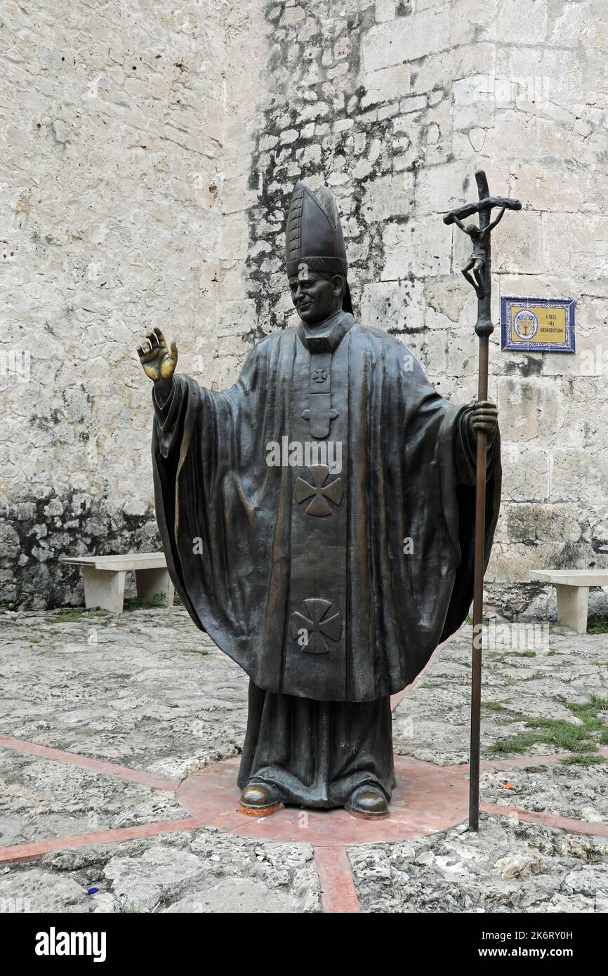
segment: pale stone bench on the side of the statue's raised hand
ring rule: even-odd
[[[122,613],[127,573],[135,573],[140,599],[162,593],[167,606],[173,606],[175,590],[169,579],[167,560],[163,552],[84,555],[63,558],[60,561],[70,566],[82,566],[87,610],[101,607],[110,613]]]

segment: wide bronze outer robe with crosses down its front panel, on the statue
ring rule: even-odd
[[[283,438],[303,451],[340,444],[342,469],[314,456],[311,468],[267,464]],[[343,311],[263,339],[222,392],[177,376],[155,403],[152,457],[182,602],[267,692],[370,702],[399,691],[468,612],[474,446],[467,408]],[[486,558],[500,479],[497,434]]]

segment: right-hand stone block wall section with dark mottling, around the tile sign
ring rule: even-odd
[[[470,243],[439,211],[517,196],[494,244],[500,296],[577,303],[577,353],[501,352],[505,504],[488,595],[547,609],[529,570],[606,566],[608,25],[600,0],[268,4],[271,99],[253,159],[256,335],[293,320],[281,262],[291,184],[338,196],[355,313],[398,335],[454,402],[476,390]],[[595,594],[596,608],[605,602]]]

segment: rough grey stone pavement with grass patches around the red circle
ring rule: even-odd
[[[247,678],[182,608],[121,617],[5,613],[0,626],[0,735],[154,781],[129,782],[0,743],[2,845],[179,822],[187,815],[162,778],[181,780],[238,754]],[[481,788],[506,815],[483,813],[479,834],[461,825],[348,846],[362,912],[608,911],[608,836],[585,834],[600,834],[608,821],[607,765],[596,761],[608,744],[608,635],[551,628],[540,640],[537,632],[531,650],[521,632],[508,632],[506,648],[497,634],[488,629]],[[466,763],[469,644],[465,626],[399,703],[395,752]],[[526,823],[507,808],[546,823]],[[571,827],[578,821],[583,833],[547,826],[550,817],[568,818]],[[92,887],[98,891],[88,895]],[[0,904],[55,912],[322,911],[310,844],[211,828],[84,844],[0,866]]]

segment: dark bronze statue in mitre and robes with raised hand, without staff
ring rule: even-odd
[[[479,431],[489,557],[497,410],[447,403],[405,346],[355,320],[327,187],[296,184],[286,261],[300,321],[254,346],[229,389],[175,376],[159,329],[138,349],[158,526],[194,623],[250,677],[241,810],[383,817],[389,697],[470,605]]]

